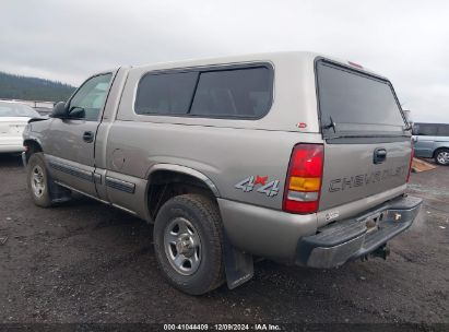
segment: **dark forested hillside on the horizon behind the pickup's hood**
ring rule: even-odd
[[[0,72],[0,98],[60,102],[73,91],[73,86],[60,82]]]

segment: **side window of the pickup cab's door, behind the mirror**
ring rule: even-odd
[[[69,116],[73,119],[97,121],[113,74],[102,74],[88,79],[78,90],[69,105]]]

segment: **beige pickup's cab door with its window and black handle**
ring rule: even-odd
[[[68,118],[54,119],[47,151],[49,170],[58,182],[97,197],[95,135],[102,120],[113,73],[86,80],[67,103]]]

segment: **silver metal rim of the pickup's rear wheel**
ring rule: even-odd
[[[201,241],[197,229],[184,217],[172,220],[164,230],[165,254],[182,275],[193,274],[201,262]]]

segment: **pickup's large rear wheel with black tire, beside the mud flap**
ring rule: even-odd
[[[168,200],[154,225],[154,247],[164,276],[176,288],[201,295],[224,282],[218,208],[201,194]]]

